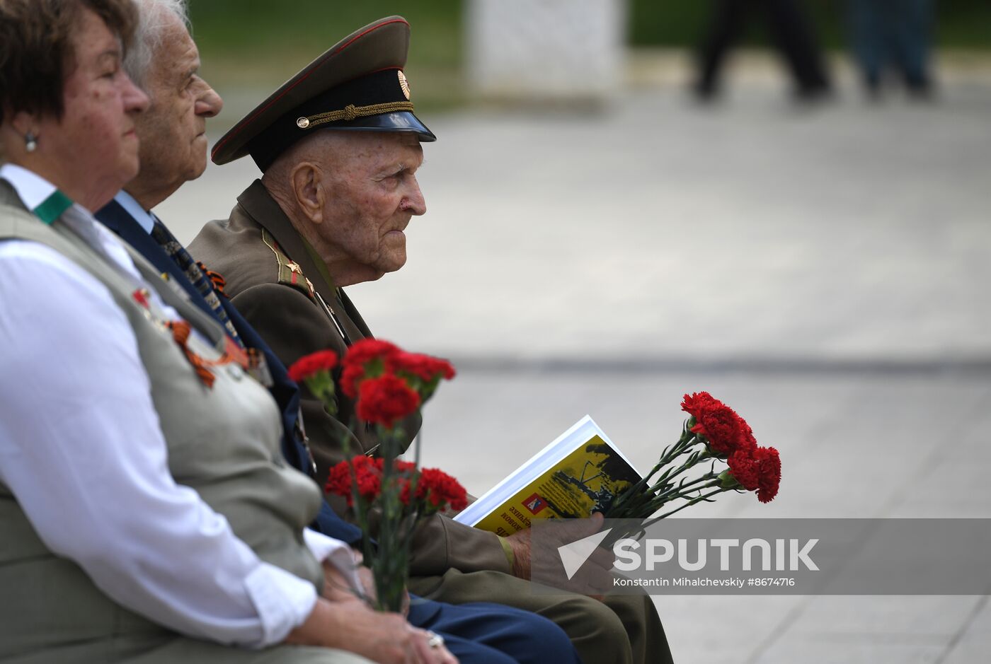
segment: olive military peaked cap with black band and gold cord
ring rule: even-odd
[[[241,119],[213,147],[214,163],[245,154],[263,171],[293,143],[315,131],[409,132],[437,137],[413,115],[402,68],[409,24],[390,16],[330,47]]]

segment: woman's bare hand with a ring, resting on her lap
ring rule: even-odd
[[[364,603],[319,599],[285,642],[339,648],[381,664],[458,664],[443,645],[431,648],[429,639],[398,614],[375,612]]]

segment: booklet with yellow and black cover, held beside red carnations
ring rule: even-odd
[[[583,519],[605,512],[639,481],[633,464],[585,416],[454,520],[506,536],[530,527],[534,519]]]

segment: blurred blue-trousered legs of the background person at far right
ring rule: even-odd
[[[871,98],[881,94],[888,67],[898,71],[911,95],[932,94],[932,0],[850,0],[849,18],[853,53]]]

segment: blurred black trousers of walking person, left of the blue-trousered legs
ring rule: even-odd
[[[829,80],[819,44],[811,22],[795,0],[714,0],[713,18],[700,54],[699,92],[711,95],[718,90],[719,70],[729,48],[758,12],[766,19],[771,40],[788,64],[796,91],[826,91]]]

